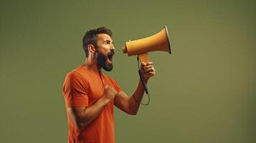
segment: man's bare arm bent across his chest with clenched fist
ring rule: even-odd
[[[108,87],[108,85],[106,85],[104,88],[103,97],[98,99],[98,101],[90,107],[67,108],[67,114],[70,116],[77,129],[83,129],[93,122],[100,112],[102,112],[104,107],[115,98],[117,92],[113,87]]]

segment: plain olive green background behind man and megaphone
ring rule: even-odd
[[[150,53],[151,104],[136,116],[115,109],[116,142],[255,142],[255,7],[255,1],[1,0],[1,142],[67,142],[62,83],[85,60],[85,31],[112,29],[116,54],[107,74],[133,94],[136,56],[121,47],[164,25],[173,54]]]

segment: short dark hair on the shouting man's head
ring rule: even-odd
[[[91,29],[85,33],[85,36],[82,38],[82,47],[85,50],[85,56],[88,57],[89,52],[87,49],[87,46],[89,44],[92,44],[95,46],[95,48],[98,48],[97,45],[97,37],[98,34],[108,34],[109,36],[112,36],[112,31],[110,29],[107,29],[105,27],[100,27],[98,29]]]

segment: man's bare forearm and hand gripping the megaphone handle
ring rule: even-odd
[[[143,71],[143,73],[145,71],[145,74],[143,74],[143,78],[145,79],[146,84],[148,82],[148,79],[150,77],[153,77],[156,73],[152,62],[149,62],[148,64],[142,64],[141,70]],[[143,98],[144,92],[145,90],[140,80],[140,82],[138,83],[138,87],[133,93],[132,97],[129,97],[123,91],[116,94],[115,106],[127,114],[135,115],[137,114],[138,108],[140,107],[141,99]]]

